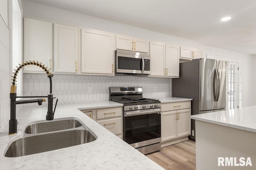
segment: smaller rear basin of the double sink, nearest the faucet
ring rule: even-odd
[[[45,133],[52,131],[60,131],[64,129],[72,129],[76,127],[81,127],[82,124],[76,119],[56,119],[54,121],[45,121],[42,123],[34,123],[29,125],[25,129],[25,133],[34,134],[34,133]]]

